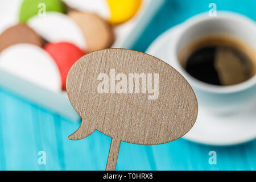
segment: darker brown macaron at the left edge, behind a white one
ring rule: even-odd
[[[28,43],[43,47],[44,40],[26,24],[16,24],[0,35],[0,52],[14,44]]]

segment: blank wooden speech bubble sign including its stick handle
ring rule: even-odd
[[[128,49],[81,57],[68,73],[67,93],[82,118],[69,139],[95,130],[112,137],[106,170],[115,170],[121,141],[171,142],[197,118],[196,96],[185,78],[162,60]]]

